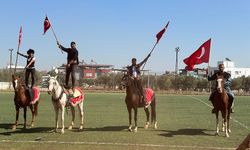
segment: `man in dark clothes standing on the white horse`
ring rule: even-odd
[[[77,69],[77,65],[79,64],[78,50],[76,49],[76,43],[71,42],[70,48],[63,47],[59,42],[57,42],[57,45],[61,50],[68,53],[67,65],[66,65],[65,88],[69,89],[69,76],[71,74],[72,90],[74,92],[75,91],[75,71]]]

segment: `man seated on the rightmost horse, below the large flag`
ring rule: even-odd
[[[224,80],[225,80],[224,89],[226,90],[227,95],[229,97],[229,105],[232,106],[233,101],[234,101],[234,94],[233,94],[232,90],[230,89],[230,86],[231,86],[231,83],[232,83],[231,74],[229,74],[228,72],[225,72],[224,68],[225,68],[224,64],[219,64],[219,71],[214,73],[211,77],[208,76],[208,81],[216,80],[217,76],[223,75]],[[215,92],[216,92],[216,90],[213,90],[213,92],[211,93],[211,95],[209,97],[210,101],[212,101],[214,99]],[[231,111],[231,113],[234,112],[232,108],[231,108],[230,111]],[[212,110],[212,113],[215,113],[214,109]]]

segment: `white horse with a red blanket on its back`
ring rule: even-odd
[[[68,98],[66,93],[64,92],[64,89],[58,81],[56,80],[57,76],[49,77],[48,80],[48,93],[52,95],[52,103],[54,106],[55,114],[56,114],[56,127],[55,127],[55,132],[58,130],[58,115],[59,115],[59,110],[61,110],[61,121],[62,121],[62,129],[61,133],[64,133],[64,112],[65,112],[65,106],[67,104]],[[79,130],[83,129],[83,119],[84,119],[84,111],[83,111],[83,100],[84,100],[84,93],[81,91],[80,88],[76,88],[75,92],[78,91],[80,93],[80,98],[77,102],[71,102],[70,101],[70,107],[71,107],[71,113],[72,113],[72,121],[71,124],[69,125],[68,129],[71,130],[74,126],[74,120],[75,120],[75,106],[78,106],[78,109],[80,111],[80,127]]]

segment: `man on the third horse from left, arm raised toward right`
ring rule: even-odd
[[[145,104],[145,95],[144,91],[142,88],[142,83],[141,83],[141,71],[140,67],[147,62],[148,58],[150,57],[151,53],[148,54],[148,56],[139,64],[136,63],[136,58],[132,58],[132,65],[128,66],[128,74],[134,78],[135,85],[138,89],[138,93],[140,95],[140,104]]]

